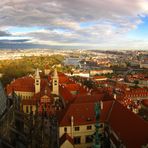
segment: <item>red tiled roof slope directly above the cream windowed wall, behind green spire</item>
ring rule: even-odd
[[[112,101],[103,102],[103,109],[101,110],[100,121],[106,120],[108,111],[111,107]],[[71,116],[74,117],[74,125],[94,124],[95,119],[95,103],[73,103],[70,104],[63,112],[58,114],[60,126],[70,126]]]

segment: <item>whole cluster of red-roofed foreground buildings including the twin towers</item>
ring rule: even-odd
[[[103,88],[102,88],[103,89]],[[105,89],[109,90],[109,89]],[[7,86],[7,95],[15,92],[24,113],[46,112],[56,115],[61,148],[89,148],[96,132],[95,104],[100,104],[100,145],[106,147],[147,147],[148,123],[127,109],[118,97],[107,91],[93,91],[63,73],[26,76]],[[43,115],[43,114],[42,114]]]

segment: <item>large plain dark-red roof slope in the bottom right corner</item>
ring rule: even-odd
[[[115,101],[108,124],[127,148],[140,148],[148,142],[148,122]]]

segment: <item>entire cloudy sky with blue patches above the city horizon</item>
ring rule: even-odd
[[[1,0],[0,48],[148,50],[148,0]]]

